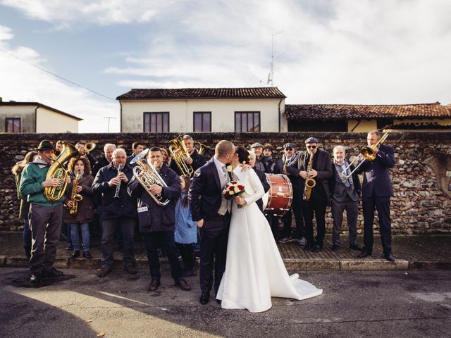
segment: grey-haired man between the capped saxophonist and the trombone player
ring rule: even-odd
[[[345,158],[345,148],[335,146],[333,149],[332,173],[329,180],[332,201],[332,251],[340,248],[340,231],[343,223],[343,211],[346,210],[347,227],[350,232],[350,249],[362,251],[357,244],[357,215],[359,214],[360,188],[359,176],[352,173],[354,165]],[[349,175],[350,177],[345,175]]]

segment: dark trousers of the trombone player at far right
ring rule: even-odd
[[[378,210],[379,232],[381,232],[381,242],[383,253],[392,252],[392,225],[390,221],[390,197],[378,197],[373,194],[371,197],[362,199],[364,211],[364,249],[370,253],[373,251],[373,222],[374,209]]]

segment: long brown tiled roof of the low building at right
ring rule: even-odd
[[[286,104],[288,120],[341,120],[354,118],[451,118],[451,105],[434,104]]]

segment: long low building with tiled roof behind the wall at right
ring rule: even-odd
[[[369,132],[451,128],[451,105],[287,104],[288,131]]]

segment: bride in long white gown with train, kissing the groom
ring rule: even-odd
[[[297,274],[288,275],[271,228],[255,204],[264,195],[259,177],[254,170],[241,171],[240,163],[248,158],[247,149],[238,146],[232,161],[233,180],[239,180],[246,192],[235,197],[232,206],[226,271],[216,299],[223,308],[263,312],[271,308],[271,296],[298,300],[319,296],[322,289],[299,280]]]

